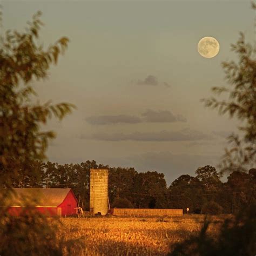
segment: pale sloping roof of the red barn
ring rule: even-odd
[[[8,199],[8,205],[20,207],[57,207],[68,193],[72,192],[71,188],[13,188],[13,190],[15,193],[12,193]]]

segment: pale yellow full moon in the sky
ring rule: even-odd
[[[213,58],[218,54],[220,45],[217,39],[207,36],[199,41],[197,49],[201,56],[205,58]]]

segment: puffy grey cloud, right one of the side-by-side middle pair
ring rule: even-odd
[[[152,122],[152,123],[172,123],[172,122],[186,122],[186,118],[178,114],[174,116],[172,112],[165,110],[165,111],[153,111],[147,110],[146,112],[142,113],[145,122]]]

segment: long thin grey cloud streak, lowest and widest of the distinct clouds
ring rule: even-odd
[[[83,138],[83,136],[81,137]],[[211,136],[203,132],[183,129],[180,131],[160,131],[160,132],[133,132],[133,133],[94,133],[91,137],[96,140],[121,141],[135,140],[138,142],[177,142],[186,140],[211,139]]]

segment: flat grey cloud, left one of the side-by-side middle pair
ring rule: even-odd
[[[92,125],[106,125],[106,124],[137,124],[142,120],[136,116],[128,116],[125,114],[119,114],[118,116],[91,116],[87,117],[86,121]]]

